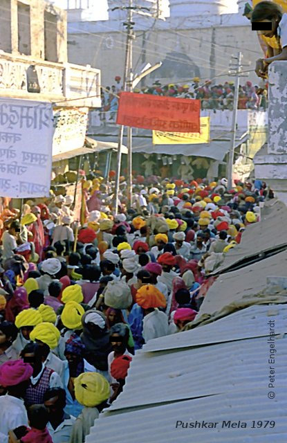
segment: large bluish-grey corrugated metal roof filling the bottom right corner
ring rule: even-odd
[[[272,317],[268,316],[271,308]],[[268,334],[270,318],[276,320],[275,332],[282,332],[287,325],[287,305],[244,309],[217,320],[212,334],[236,336],[230,318],[233,325],[242,329],[247,327],[249,319],[250,336],[256,334],[256,325],[262,332],[264,323],[265,334]],[[276,383],[273,390],[276,397],[268,399],[268,338],[206,345],[205,342],[210,341],[209,326],[177,334],[183,337],[184,343],[187,343],[187,334],[191,343],[195,334],[201,334],[201,345],[192,349],[167,350],[172,336],[147,343],[133,358],[124,391],[96,420],[86,443],[186,443],[189,440],[195,443],[285,443],[286,336],[281,334],[275,338]],[[159,341],[161,346],[156,343]],[[155,348],[159,351],[150,352]],[[221,428],[223,420],[246,421],[250,426],[253,419],[273,419],[276,427]],[[220,425],[216,429],[176,428],[177,420],[205,420]]]

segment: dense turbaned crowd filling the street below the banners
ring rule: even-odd
[[[266,183],[82,178],[1,213],[0,442],[83,443],[137,350],[192,322],[210,275],[272,198]],[[208,277],[210,275],[210,277]],[[139,381],[140,383],[140,381]]]

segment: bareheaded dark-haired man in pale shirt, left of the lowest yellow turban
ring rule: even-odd
[[[62,388],[46,390],[44,394],[44,405],[49,413],[47,428],[53,443],[70,442],[72,427],[76,419],[73,415],[68,415],[64,412],[66,406],[65,390]]]

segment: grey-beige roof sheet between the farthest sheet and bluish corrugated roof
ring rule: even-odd
[[[269,275],[286,275],[286,270],[287,251],[284,251],[243,269],[219,275],[207,291],[199,314],[213,314],[235,300],[263,291]]]

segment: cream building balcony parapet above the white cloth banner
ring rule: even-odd
[[[0,51],[0,96],[100,107],[100,70]]]

